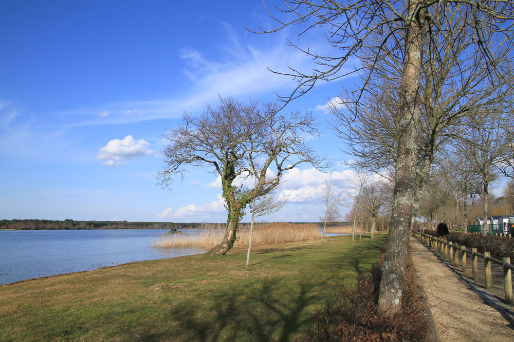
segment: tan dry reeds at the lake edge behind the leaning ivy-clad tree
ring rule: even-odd
[[[206,224],[207,225],[207,224]],[[204,228],[183,234],[163,233],[152,243],[156,248],[198,247],[210,249],[218,244],[225,234],[225,229]],[[250,237],[249,225],[241,225],[237,232],[238,239],[234,248],[248,247]],[[321,237],[320,228],[315,224],[295,225],[292,223],[269,223],[253,226],[252,246],[282,244],[311,240]]]

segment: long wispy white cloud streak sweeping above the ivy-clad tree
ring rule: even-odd
[[[190,84],[185,82],[179,89],[173,89],[175,96],[103,104],[100,108],[84,108],[61,114],[83,118],[74,119],[69,127],[177,118],[183,111],[198,111],[206,103],[216,102],[218,96],[245,98],[263,94],[269,96],[274,92],[287,94],[296,86],[296,81],[268,69],[287,72],[290,66],[295,66],[296,70],[308,72],[314,66],[303,52],[283,44],[284,37],[277,37],[277,44],[256,47],[233,35],[229,32],[229,45],[219,47],[224,51],[224,59],[221,60],[209,58],[194,47],[180,50],[179,57],[183,61],[181,71]]]

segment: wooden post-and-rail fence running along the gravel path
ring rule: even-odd
[[[490,290],[492,287],[492,277],[491,277],[491,263],[497,264],[503,267],[503,282],[505,287],[505,303],[514,304],[514,300],[512,299],[512,270],[514,270],[514,266],[510,264],[510,257],[503,257],[503,260],[495,259],[491,257],[490,252],[485,252],[484,254],[480,254],[476,251],[476,248],[471,248],[471,250],[466,249],[466,246],[458,246],[456,243],[447,242],[446,240],[437,238],[435,236],[427,235],[423,232],[414,231],[413,235],[423,242],[425,245],[434,248],[436,251],[440,252],[443,257],[449,260],[454,266],[459,265],[459,257],[458,251],[461,251],[461,265],[462,272],[464,274],[467,273],[468,268],[468,256],[471,258],[471,266],[472,266],[472,277],[473,280],[478,280],[479,278],[479,268],[478,268],[478,258],[484,259],[485,266],[485,285],[486,289]]]

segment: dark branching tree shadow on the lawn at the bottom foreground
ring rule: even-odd
[[[141,335],[141,340],[294,339],[305,324],[315,319],[314,312],[306,311],[306,307],[315,304],[319,298],[311,293],[306,283],[298,284],[295,291],[287,293],[277,291],[280,287],[280,279],[271,279],[260,284],[260,289],[253,292],[247,292],[242,287],[227,289],[217,295],[212,310],[204,316],[199,316],[194,306],[184,303],[185,308],[181,306],[180,311],[170,312],[166,319],[179,324],[179,336],[148,333]],[[202,312],[205,312],[205,308]]]

